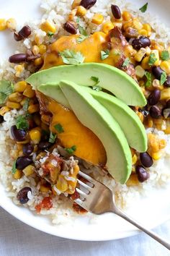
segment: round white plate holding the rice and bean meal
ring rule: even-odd
[[[133,0],[131,0],[133,1]],[[134,0],[135,2],[135,0]],[[149,2],[149,9],[153,14],[158,14],[161,22],[169,25],[170,1],[152,0]],[[40,17],[38,7],[40,0],[0,0],[0,17],[16,17],[18,22],[24,22],[32,18]],[[146,4],[146,1],[138,0],[138,7]],[[5,36],[4,36],[5,35]],[[0,33],[0,56],[7,58],[14,51],[15,43],[10,33]],[[140,201],[134,202],[133,208],[128,210],[128,214],[137,219],[148,228],[158,226],[170,218],[170,187],[167,189],[153,189],[151,195]],[[55,236],[68,239],[86,241],[104,241],[109,239],[120,239],[126,236],[137,234],[130,223],[109,213],[99,217],[99,222],[89,223],[86,217],[79,217],[74,223],[66,223],[62,226],[53,226],[47,217],[35,216],[30,210],[18,207],[6,196],[4,187],[0,184],[0,205],[12,216],[29,226],[39,229]]]

